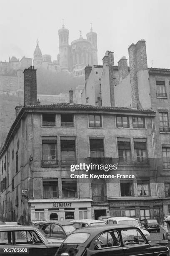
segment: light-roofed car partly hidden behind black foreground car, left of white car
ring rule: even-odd
[[[88,226],[96,226],[96,225],[106,225],[106,223],[102,220],[72,220],[70,221],[76,229],[85,228]]]

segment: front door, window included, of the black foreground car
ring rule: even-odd
[[[124,256],[153,256],[153,247],[148,244],[143,234],[137,229],[121,230]]]

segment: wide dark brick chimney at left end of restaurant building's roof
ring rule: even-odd
[[[24,70],[24,106],[37,104],[37,76],[36,69]]]

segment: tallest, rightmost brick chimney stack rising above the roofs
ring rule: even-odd
[[[137,108],[139,101],[138,72],[141,70],[148,70],[145,40],[141,39],[137,44],[131,44],[128,51],[132,103],[133,108]]]

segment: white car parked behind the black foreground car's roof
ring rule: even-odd
[[[135,220],[134,218],[129,218],[129,217],[111,217],[111,218],[107,219],[106,224],[110,224],[110,225],[112,225],[112,224],[130,225],[130,226],[140,228],[140,225],[139,225],[138,221]],[[148,241],[150,241],[150,233],[147,230],[142,229],[142,228],[140,228],[140,230],[143,232],[146,239]]]

